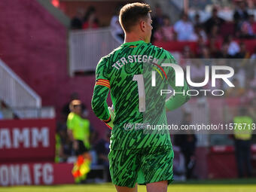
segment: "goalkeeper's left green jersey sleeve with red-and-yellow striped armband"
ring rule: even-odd
[[[96,67],[96,84],[93,90],[92,108],[100,120],[108,123],[111,120],[108,112],[108,92],[110,84],[108,79],[108,72],[105,59],[101,59]]]

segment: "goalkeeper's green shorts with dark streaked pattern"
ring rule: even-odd
[[[134,187],[157,181],[173,181],[172,146],[112,150],[108,154],[113,184]]]

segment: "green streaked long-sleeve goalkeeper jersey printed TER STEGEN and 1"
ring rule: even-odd
[[[106,99],[111,91],[115,113],[111,149],[172,145],[169,133],[145,131],[146,123],[166,124],[166,95],[161,90],[170,85],[179,93],[169,99],[171,110],[189,99],[181,94],[188,90],[186,81],[183,87],[176,87],[174,69],[161,66],[162,62],[175,63],[175,59],[169,51],[144,41],[124,43],[100,59],[92,108],[100,120],[109,120]]]

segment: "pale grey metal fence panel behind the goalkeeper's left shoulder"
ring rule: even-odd
[[[69,72],[94,72],[102,56],[120,45],[110,28],[69,32]]]

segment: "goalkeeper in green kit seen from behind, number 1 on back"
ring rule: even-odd
[[[166,111],[190,99],[181,94],[187,93],[187,83],[184,81],[184,86],[176,87],[174,69],[161,65],[164,60],[176,64],[173,56],[150,44],[150,12],[149,5],[143,3],[121,8],[119,20],[125,32],[124,43],[102,57],[96,68],[92,108],[111,128],[109,169],[118,192],[137,191],[137,184],[146,184],[147,191],[167,191],[173,180],[174,157],[169,132],[147,132],[144,123],[166,124]],[[152,66],[157,72],[154,77],[157,82],[162,81],[160,85],[148,83],[145,66]],[[180,94],[166,100],[160,89],[166,90],[169,85]],[[112,108],[106,102],[109,91]],[[147,113],[149,117],[145,116]]]

